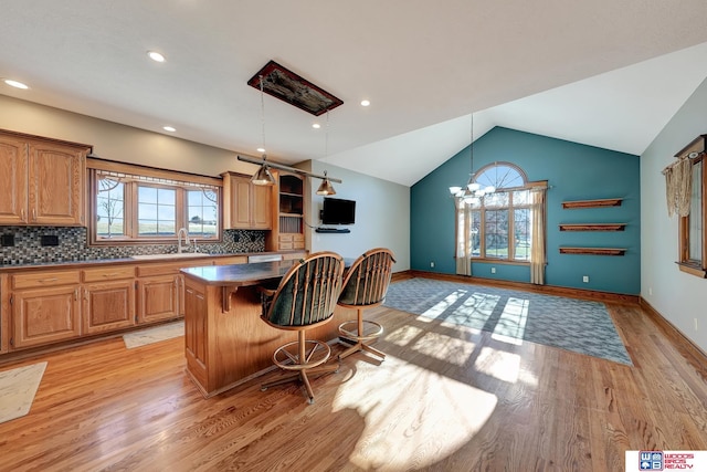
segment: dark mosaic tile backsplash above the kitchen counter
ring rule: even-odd
[[[13,238],[11,238],[13,237]],[[14,245],[4,245],[14,239]],[[0,227],[2,265],[40,264],[48,262],[93,261],[123,259],[139,254],[177,252],[177,244],[141,244],[88,247],[85,228]],[[48,241],[56,245],[43,245]],[[233,254],[265,251],[265,231],[224,230],[220,243],[202,243],[197,238],[199,252]]]

